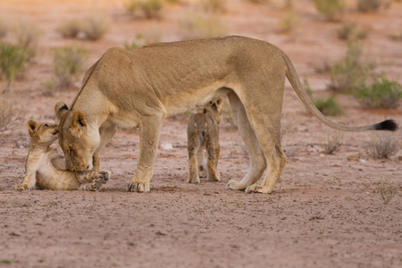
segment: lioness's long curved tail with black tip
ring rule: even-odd
[[[297,96],[301,99],[301,101],[306,105],[307,110],[310,113],[313,113],[315,117],[317,117],[322,123],[326,124],[332,129],[341,130],[341,131],[365,131],[365,130],[390,130],[395,131],[398,129],[398,124],[393,120],[381,121],[379,123],[373,125],[367,125],[362,127],[348,127],[336,122],[328,120],[320,110],[315,107],[313,101],[307,95],[306,90],[302,87],[300,80],[298,79],[297,72],[293,63],[290,61],[289,57],[286,54],[283,54],[283,59],[286,64],[286,76],[293,89],[295,89]]]

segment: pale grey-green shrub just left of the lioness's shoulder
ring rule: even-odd
[[[83,70],[83,64],[88,56],[88,50],[76,45],[53,49],[54,75],[58,87],[70,87]]]

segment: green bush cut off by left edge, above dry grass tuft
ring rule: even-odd
[[[0,42],[0,71],[2,80],[5,81],[4,90],[9,90],[17,74],[23,71],[29,57],[29,48]]]

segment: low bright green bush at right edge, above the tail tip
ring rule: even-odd
[[[357,98],[369,108],[397,108],[402,98],[402,86],[397,81],[375,79],[371,85],[362,84],[356,92]]]

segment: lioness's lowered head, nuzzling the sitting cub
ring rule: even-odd
[[[88,126],[84,113],[72,112],[63,102],[54,106],[59,123],[59,144],[63,149],[67,167],[71,171],[93,169],[93,155],[99,146],[98,130]]]

